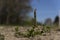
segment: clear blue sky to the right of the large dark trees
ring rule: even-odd
[[[33,0],[31,5],[33,9],[37,9],[37,21],[39,22],[44,22],[46,18],[54,20],[60,13],[60,0]]]

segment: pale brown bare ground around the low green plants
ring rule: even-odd
[[[16,38],[14,36],[14,28],[15,27],[2,27],[0,26],[0,33],[5,36],[5,40],[60,40],[60,32],[59,31],[51,31],[46,36],[37,35],[34,38]],[[29,27],[19,27],[20,31],[24,32]],[[31,27],[30,27],[31,28]]]

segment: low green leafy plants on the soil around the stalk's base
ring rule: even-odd
[[[18,29],[19,27],[16,27],[15,28],[15,36],[16,37],[18,37],[18,36],[23,36],[23,37],[28,37],[28,38],[30,38],[30,37],[34,37],[34,36],[36,36],[36,35],[42,35],[42,33],[44,33],[44,31],[45,31],[45,29],[44,30],[42,30],[42,31],[40,31],[40,30],[34,30],[34,27],[32,27],[32,29],[28,29],[27,30],[27,32],[24,34],[24,33],[21,33],[21,32],[18,32],[19,31],[19,29]]]

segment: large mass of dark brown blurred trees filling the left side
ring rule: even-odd
[[[0,24],[21,24],[32,11],[31,0],[0,0]]]

